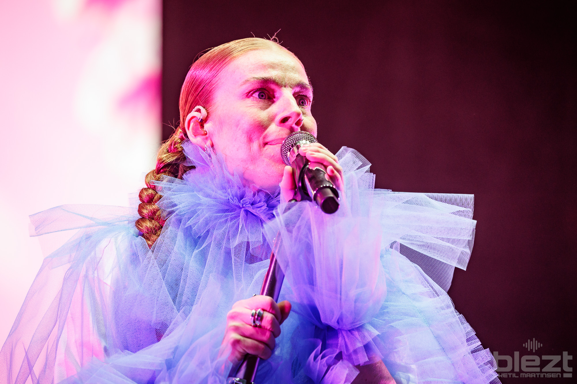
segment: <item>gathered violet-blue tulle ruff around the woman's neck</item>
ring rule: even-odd
[[[203,151],[188,140],[183,148],[195,169],[186,173],[183,180],[163,177],[153,182],[163,196],[156,205],[168,218],[167,230],[185,229],[211,244],[225,242],[230,249],[247,242],[253,252],[257,247],[268,251],[263,222],[273,217],[279,204],[279,189],[271,193],[244,185],[242,174],[229,171],[222,155]],[[265,253],[260,256],[265,257]]]

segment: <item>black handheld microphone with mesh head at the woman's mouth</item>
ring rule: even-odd
[[[284,164],[293,168],[297,185],[293,200],[314,201],[323,212],[333,214],[339,209],[339,192],[329,180],[327,169],[321,163],[309,162],[298,153],[300,147],[310,143],[317,143],[317,139],[308,132],[297,131],[288,135],[280,146]]]

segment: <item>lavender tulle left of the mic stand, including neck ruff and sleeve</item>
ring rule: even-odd
[[[235,301],[258,293],[278,193],[254,191],[222,158],[185,144],[196,169],[156,188],[166,223],[148,248],[136,208],[61,206],[32,235],[65,233],[47,255],[6,343],[9,383],[222,382]]]

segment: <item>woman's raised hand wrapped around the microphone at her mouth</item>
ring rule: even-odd
[[[343,188],[343,168],[339,159],[320,143],[310,143],[302,146],[298,153],[305,156],[310,162],[323,164],[327,168],[327,175],[337,189]],[[294,183],[293,168],[284,167],[283,180],[280,181],[280,192],[287,201],[292,199],[297,185]]]

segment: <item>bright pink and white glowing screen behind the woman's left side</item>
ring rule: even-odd
[[[160,0],[0,3],[0,340],[40,264],[28,215],[128,204],[160,139]]]

